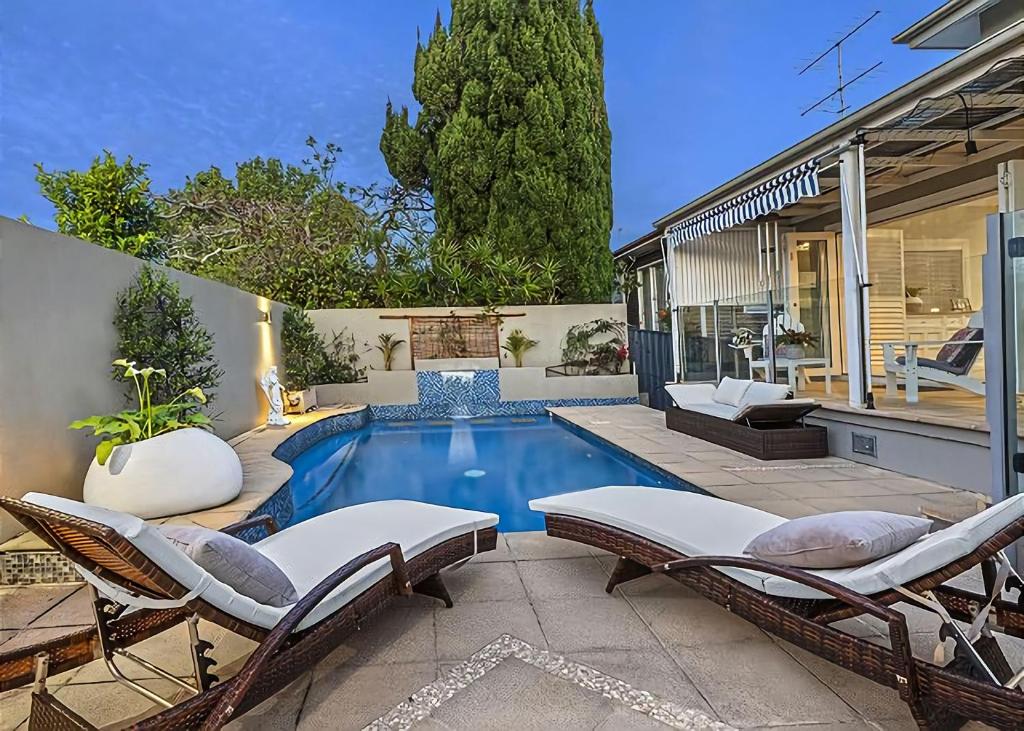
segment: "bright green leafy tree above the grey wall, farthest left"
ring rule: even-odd
[[[103,150],[87,170],[47,172],[36,163],[36,181],[56,208],[57,230],[142,259],[162,254],[156,205],[144,164],[119,163]]]

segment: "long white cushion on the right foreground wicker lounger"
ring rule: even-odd
[[[756,535],[786,521],[738,503],[660,487],[596,487],[534,500],[529,507],[628,530],[685,556],[741,556]],[[809,572],[860,594],[877,594],[967,556],[1022,515],[1024,494],[1019,494],[926,535],[892,556],[853,568]],[[797,582],[761,571],[737,568],[722,571],[774,596],[800,599],[825,596]]]

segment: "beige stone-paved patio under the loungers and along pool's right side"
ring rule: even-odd
[[[791,517],[979,508],[974,493],[834,458],[760,463],[670,432],[663,415],[641,406],[554,411],[715,494]],[[915,728],[894,691],[776,641],[671,579],[647,576],[605,594],[612,564],[543,533],[501,535],[497,551],[446,574],[453,609],[403,600],[233,726],[360,729],[383,718],[377,728],[397,728],[421,718],[416,728]],[[79,586],[0,590],[0,650],[87,617]],[[935,622],[922,612],[911,618],[915,651],[931,657]],[[871,622],[847,627],[885,642]],[[221,677],[253,647],[217,628],[203,634],[218,644]],[[184,648],[176,628],[138,652],[185,676]],[[1008,654],[1019,660],[1024,651],[1015,643]],[[170,693],[165,681],[145,682]],[[50,687],[97,724],[150,711],[99,662]],[[26,728],[28,711],[28,689],[0,695],[0,728]]]

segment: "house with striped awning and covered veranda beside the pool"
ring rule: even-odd
[[[990,217],[1024,210],[1024,3],[950,0],[893,42],[958,53],[615,252],[637,266],[631,324],[671,312],[674,380],[781,377],[778,324],[799,324],[837,411],[987,428],[989,348],[944,390],[924,363],[1005,304],[984,262]]]

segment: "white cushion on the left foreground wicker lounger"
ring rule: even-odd
[[[209,574],[175,548],[152,525],[127,513],[119,513],[75,500],[30,492],[27,503],[57,510],[109,525],[130,541],[171,577],[189,589]],[[394,542],[407,560],[449,539],[498,523],[494,513],[445,508],[407,500],[364,503],[318,515],[285,528],[254,544],[288,575],[301,598],[322,579],[356,556]],[[358,571],[306,615],[299,630],[315,625],[362,593],[391,570],[381,559]],[[242,596],[212,576],[200,596],[221,611],[264,629],[271,629],[290,606],[272,607]]]

